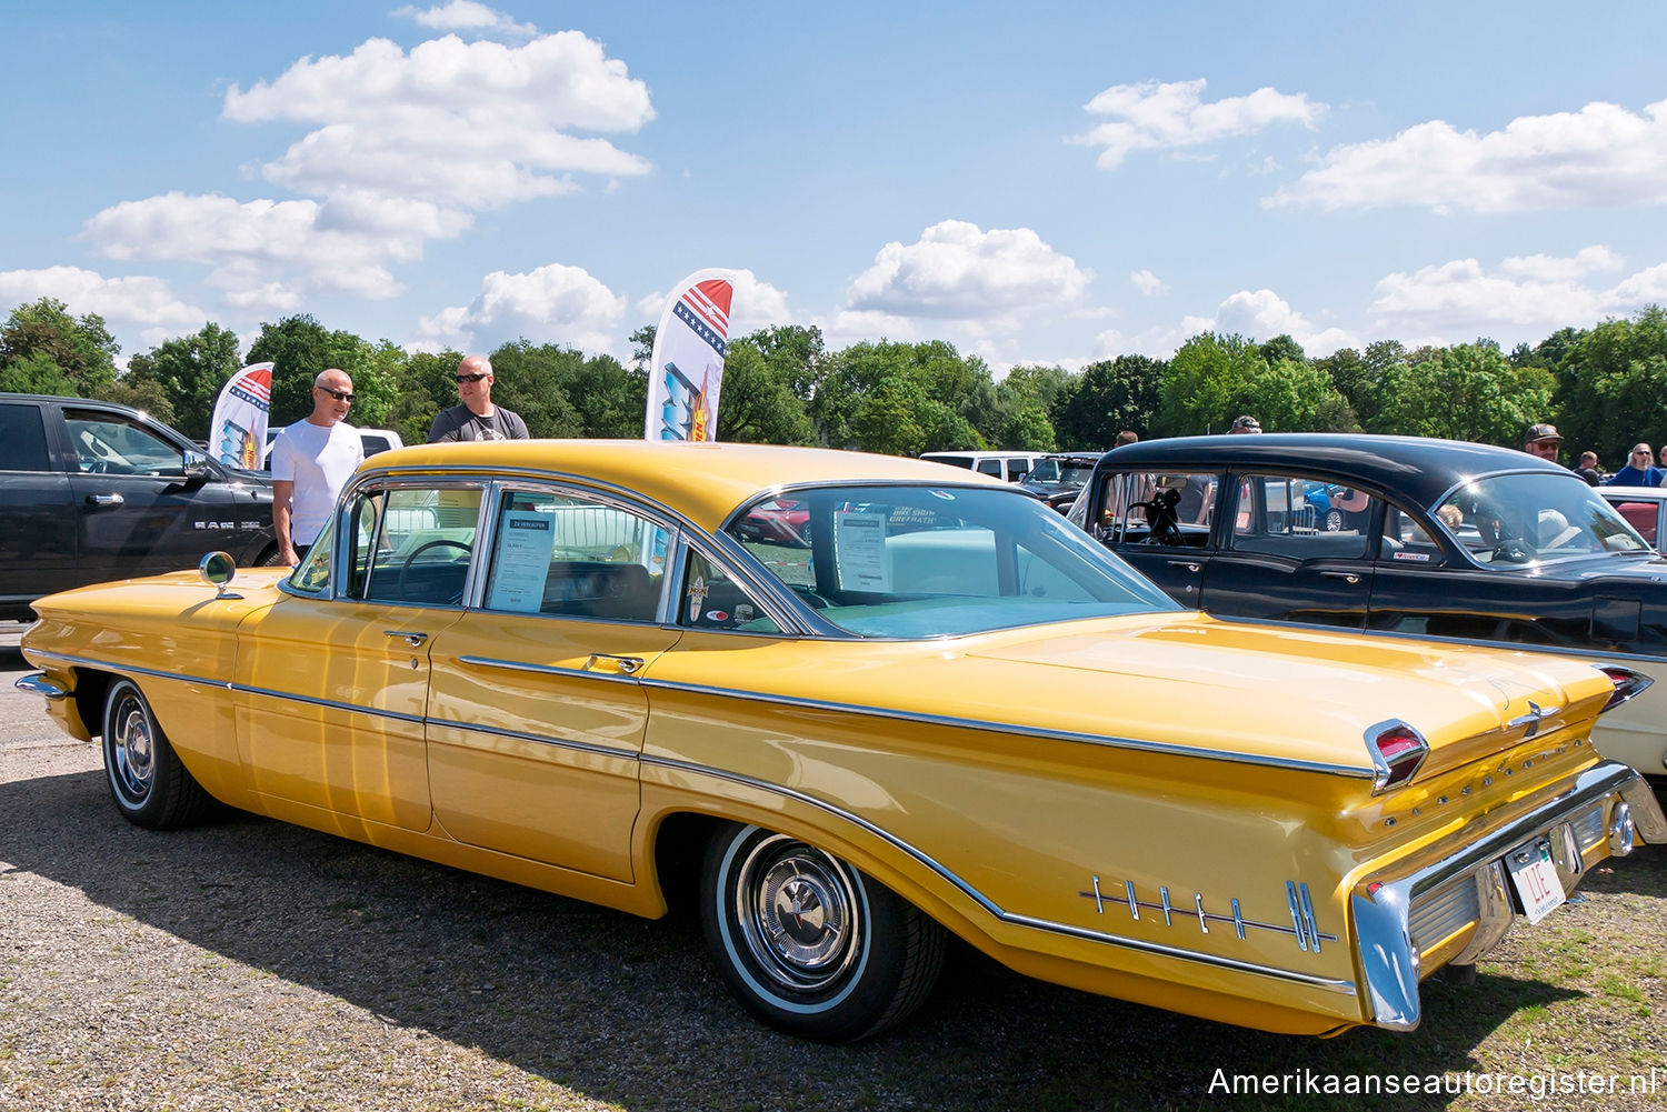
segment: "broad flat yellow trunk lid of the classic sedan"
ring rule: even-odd
[[[887,685],[945,717],[1350,769],[1370,765],[1365,737],[1387,722],[1425,737],[1435,774],[1530,730],[1585,730],[1614,690],[1597,669],[1544,654],[1192,612],[967,640],[982,644],[895,669]]]

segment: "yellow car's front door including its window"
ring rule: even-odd
[[[240,630],[237,737],[253,790],[428,829],[430,654],[463,615],[480,493],[463,483],[358,492],[335,590],[287,595]],[[298,579],[330,567],[335,547],[335,530],[322,533]]]

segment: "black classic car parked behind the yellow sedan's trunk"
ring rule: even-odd
[[[1667,560],[1579,475],[1524,452],[1322,433],[1150,440],[1102,457],[1070,518],[1220,617],[1504,642],[1667,679]],[[1595,740],[1660,780],[1667,685]]]

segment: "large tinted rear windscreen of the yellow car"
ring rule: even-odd
[[[818,487],[787,498],[752,503],[727,532],[823,619],[862,637],[1179,609],[1017,490]]]

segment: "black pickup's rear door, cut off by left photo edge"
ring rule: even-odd
[[[0,403],[0,612],[77,587],[70,477],[48,447],[37,402]]]

